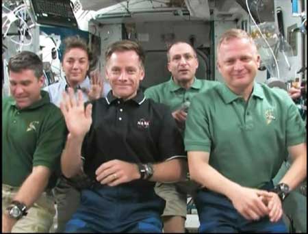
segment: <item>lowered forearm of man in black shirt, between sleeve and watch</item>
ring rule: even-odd
[[[151,181],[176,182],[184,180],[188,172],[188,165],[185,159],[177,158],[153,164],[153,176]]]

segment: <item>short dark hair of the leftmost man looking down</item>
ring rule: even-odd
[[[40,57],[31,51],[21,51],[12,57],[8,62],[8,73],[10,71],[19,73],[22,70],[34,70],[36,78],[40,78],[43,75],[43,65]]]

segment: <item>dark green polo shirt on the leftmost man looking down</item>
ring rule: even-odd
[[[18,109],[12,96],[2,101],[2,183],[19,187],[34,166],[46,166],[51,172],[60,169],[60,155],[66,140],[66,125],[49,94]],[[49,186],[55,183],[51,177]]]

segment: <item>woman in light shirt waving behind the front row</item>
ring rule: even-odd
[[[110,86],[103,90],[103,78],[94,68],[97,58],[93,57],[88,49],[88,44],[78,36],[70,36],[64,40],[64,53],[62,56],[62,69],[65,77],[57,83],[44,88],[49,92],[51,102],[60,107],[62,93],[68,87],[82,91],[84,101],[92,101],[105,96]],[[90,78],[89,78],[90,77]],[[79,175],[73,179],[60,178],[53,190],[57,203],[57,229],[56,232],[63,232],[66,222],[75,212],[79,205],[80,194],[78,188],[86,178]]]

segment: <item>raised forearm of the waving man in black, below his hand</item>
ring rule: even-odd
[[[68,133],[66,145],[61,155],[61,170],[65,177],[74,177],[81,172],[81,146],[84,136],[73,136]]]

